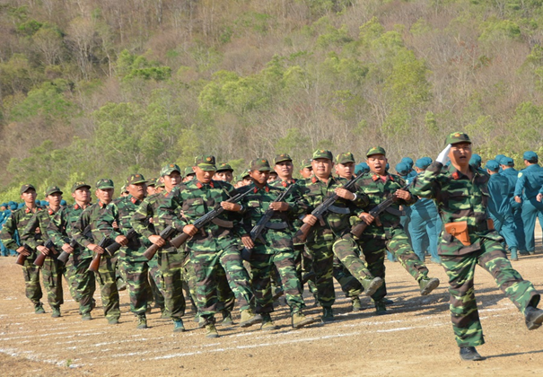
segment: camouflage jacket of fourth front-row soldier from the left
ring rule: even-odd
[[[114,222],[120,223],[117,206],[113,203],[105,205],[99,200],[83,210],[83,213],[73,225],[74,232],[72,236],[77,243],[85,248],[91,243],[98,244],[104,237],[107,237],[109,243],[111,243],[121,234],[121,232],[113,228]],[[91,225],[92,237],[88,233],[84,233],[88,224]],[[104,256],[107,257],[108,254],[105,253]]]

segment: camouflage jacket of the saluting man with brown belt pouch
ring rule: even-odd
[[[442,223],[466,221],[472,245],[463,247],[460,242],[447,232],[442,232],[440,255],[462,255],[478,250],[478,238],[485,237],[502,241],[502,237],[494,230],[488,230],[486,220],[489,200],[487,174],[482,174],[469,167],[473,178],[457,171],[453,166],[442,172],[442,163],[433,162],[424,174],[419,175],[411,192],[419,197],[434,199],[442,217]],[[451,244],[451,245],[450,245]]]

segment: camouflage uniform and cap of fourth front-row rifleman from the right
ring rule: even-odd
[[[205,170],[215,170],[213,156],[198,156],[196,164]],[[174,219],[176,228],[182,230],[185,225],[194,223],[216,205],[234,195],[232,185],[220,180],[203,184],[194,178],[184,186],[176,187],[171,191],[169,206],[176,212],[180,209],[183,214]],[[240,215],[224,211],[216,221],[206,224],[186,243],[196,279],[198,313],[206,324],[215,323],[215,312],[225,308],[224,304],[219,305],[217,298],[217,272],[221,266],[238,300],[240,311],[250,309],[250,279],[242,264],[239,241],[234,229],[239,220]]]

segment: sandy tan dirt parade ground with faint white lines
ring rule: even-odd
[[[521,275],[543,291],[543,251],[513,262]],[[221,338],[207,339],[197,329],[194,313],[185,317],[188,331],[172,333],[169,320],[154,309],[150,329],[137,330],[129,312],[127,291],[121,293],[123,314],[109,326],[101,310],[83,322],[68,299],[63,316],[33,313],[24,296],[21,267],[0,258],[0,374],[58,375],[223,375],[223,376],[403,376],[403,375],[543,375],[543,328],[528,331],[520,312],[497,290],[492,277],[477,267],[476,290],[486,345],[486,360],[460,361],[448,311],[447,279],[439,265],[429,264],[442,285],[426,297],[398,263],[387,263],[390,314],[374,316],[367,298],[364,311],[350,310],[350,300],[337,290],[337,320],[324,326],[293,330],[286,306],[274,313],[280,329],[260,331],[218,328]],[[95,297],[100,304],[100,294]],[[320,308],[306,299],[306,314]],[[238,316],[234,317],[237,320]]]

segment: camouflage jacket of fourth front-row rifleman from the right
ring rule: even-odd
[[[237,192],[228,182],[212,180],[202,184],[198,180],[189,180],[183,186],[171,191],[169,207],[179,216],[172,220],[176,228],[182,231],[187,224],[193,224],[206,215],[221,202],[236,195]],[[190,250],[216,251],[223,250],[239,243],[238,224],[241,216],[232,211],[223,211],[218,221],[206,224],[199,232],[187,241]]]

